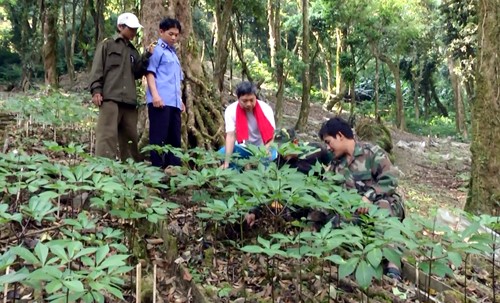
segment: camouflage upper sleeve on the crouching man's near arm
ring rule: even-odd
[[[390,196],[396,192],[398,186],[396,169],[380,147],[374,150],[371,170],[375,182],[365,192],[365,197],[375,201],[380,196]]]

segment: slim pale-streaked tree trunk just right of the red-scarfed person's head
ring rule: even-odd
[[[271,50],[271,66],[276,76],[276,104],[274,116],[276,125],[281,126],[283,120],[283,95],[285,93],[285,75],[283,54],[281,53],[281,0],[268,0],[269,48]]]

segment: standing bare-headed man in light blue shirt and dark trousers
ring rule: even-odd
[[[181,98],[183,73],[175,52],[181,32],[176,19],[166,18],[160,22],[160,38],[149,59],[146,79],[146,99],[149,115],[149,144],[181,146],[181,112],[185,110]],[[160,155],[151,152],[153,166],[166,168],[180,166],[180,159],[172,153]]]

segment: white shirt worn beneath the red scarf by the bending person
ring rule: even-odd
[[[276,123],[274,122],[274,112],[271,106],[263,101],[259,101],[260,108],[266,116],[267,120],[273,128],[276,128]],[[231,103],[224,113],[224,121],[226,122],[226,133],[236,131],[236,107],[238,106],[238,101]],[[262,136],[260,135],[259,126],[257,125],[257,120],[253,112],[246,112],[247,121],[248,121],[248,141],[247,143],[251,143],[256,146],[261,146],[264,143],[262,142]]]

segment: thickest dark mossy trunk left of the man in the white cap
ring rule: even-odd
[[[57,1],[45,3],[43,26],[43,67],[45,84],[57,87]]]

